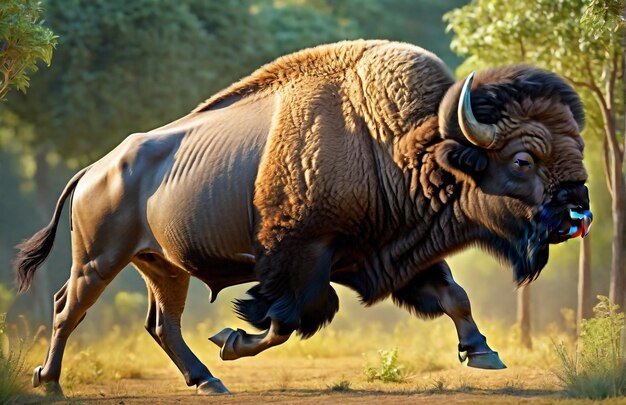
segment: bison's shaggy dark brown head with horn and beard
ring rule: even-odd
[[[591,224],[576,92],[528,66],[471,74],[440,106],[440,164],[462,185],[470,239],[532,281],[550,243],[584,237]]]

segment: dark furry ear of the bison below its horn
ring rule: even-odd
[[[457,141],[443,141],[435,156],[439,164],[459,180],[479,180],[487,168],[485,151],[474,146],[461,145]]]

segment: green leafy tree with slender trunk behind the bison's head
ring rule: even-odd
[[[449,29],[455,34],[452,48],[468,59],[461,66],[463,73],[476,68],[502,63],[533,63],[556,71],[566,77],[587,101],[587,134],[601,137],[604,144],[604,168],[607,187],[612,196],[613,249],[610,296],[614,302],[624,302],[624,215],[626,187],[624,185],[624,145],[620,145],[616,118],[621,95],[616,87],[623,86],[621,74],[622,32],[615,10],[621,12],[619,1],[538,0],[530,3],[506,0],[476,0],[447,14]],[[609,5],[610,21],[596,29],[581,24],[583,14],[591,13],[596,4]],[[586,10],[586,11],[585,11]],[[619,14],[618,14],[619,16]],[[591,102],[589,102],[589,100]],[[603,125],[594,125],[600,117]],[[589,139],[590,137],[588,137]],[[623,142],[623,138],[622,138]],[[584,244],[589,241],[585,240]],[[582,281],[589,274],[588,247],[581,248]],[[583,283],[584,284],[584,283]],[[588,311],[589,287],[581,285],[582,317]]]

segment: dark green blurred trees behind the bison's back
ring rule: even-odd
[[[269,0],[155,4],[44,3],[46,24],[59,35],[55,64],[33,77],[27,95],[13,93],[1,106],[10,119],[1,123],[0,137],[0,147],[21,155],[23,173],[34,184],[40,224],[49,221],[56,198],[51,165],[86,165],[129,133],[189,112],[281,53],[358,35],[339,18],[306,5],[275,6]],[[292,15],[300,20],[280,26]],[[36,280],[44,284],[34,300],[42,308],[49,307],[45,281],[50,274],[41,272]]]

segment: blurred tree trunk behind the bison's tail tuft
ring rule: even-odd
[[[48,165],[46,153],[40,152],[35,156],[37,169],[35,171],[35,199],[37,216],[41,226],[48,224],[52,218],[53,202],[50,199],[50,182],[47,175]],[[34,321],[47,323],[52,319],[52,292],[50,291],[50,276],[46,271],[46,264],[42,265],[37,272],[31,286],[32,301],[31,310]]]

